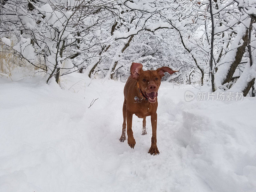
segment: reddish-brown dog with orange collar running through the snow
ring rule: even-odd
[[[169,67],[143,71],[141,63],[132,63],[131,76],[124,86],[124,123],[120,141],[124,142],[125,140],[127,121],[128,145],[134,148],[136,142],[132,132],[132,115],[135,114],[139,118],[143,118],[142,135],[147,134],[146,116],[151,116],[152,138],[151,147],[148,151],[151,155],[159,154],[156,146],[157,91],[161,84],[161,78],[164,76],[164,72],[173,74],[177,71],[173,71]]]

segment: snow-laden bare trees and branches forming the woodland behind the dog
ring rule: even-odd
[[[255,1],[8,0],[1,9],[1,38],[15,36],[13,50],[46,82],[73,72],[124,81],[141,62],[180,71],[166,81],[253,90]]]

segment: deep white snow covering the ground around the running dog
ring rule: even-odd
[[[163,82],[151,156],[150,117],[141,135],[133,116],[134,149],[119,141],[124,83],[74,73],[61,87],[0,78],[1,192],[256,190],[255,98],[187,102],[198,90]]]

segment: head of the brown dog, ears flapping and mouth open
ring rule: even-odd
[[[161,84],[161,78],[164,76],[164,72],[168,72],[172,75],[177,71],[173,71],[169,67],[143,71],[141,63],[132,63],[131,77],[138,81],[142,93],[148,98],[150,103],[156,102],[157,92]]]

